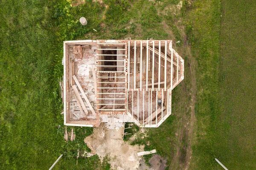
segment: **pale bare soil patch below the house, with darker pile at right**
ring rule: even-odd
[[[131,146],[122,140],[122,134],[123,128],[106,129],[104,140],[104,124],[102,123],[99,128],[93,129],[93,134],[87,136],[84,142],[91,149],[91,153],[97,154],[101,161],[108,155],[113,170],[164,170],[166,161],[161,156],[155,154],[150,160],[152,166],[148,167],[143,158],[137,156],[137,152],[144,151],[144,146]]]

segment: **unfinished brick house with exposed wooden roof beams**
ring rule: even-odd
[[[183,78],[172,40],[65,41],[64,125],[158,127],[172,113],[172,89]]]

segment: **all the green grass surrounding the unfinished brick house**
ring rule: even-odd
[[[157,149],[169,169],[186,166],[190,144],[190,169],[221,169],[215,157],[230,169],[256,169],[256,3],[185,0],[179,8],[179,2],[0,1],[0,169],[47,169],[62,153],[55,169],[109,169],[97,156],[76,166],[76,150],[88,150],[82,143],[92,128],[76,127],[79,138],[64,142],[57,80],[64,40],[124,37],[173,40],[185,60],[185,79],[172,92],[173,115],[134,144]]]

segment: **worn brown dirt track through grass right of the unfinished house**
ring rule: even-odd
[[[183,28],[180,28],[184,30]],[[191,100],[185,104],[186,112],[181,112],[180,117],[181,120],[178,122],[177,131],[175,135],[177,136],[177,144],[175,150],[177,150],[174,155],[170,169],[189,169],[189,162],[192,157],[192,136],[195,125],[195,101],[196,101],[196,73],[195,68],[197,66],[197,62],[194,58],[192,58],[192,54],[190,52],[190,47],[187,44],[186,34],[183,33],[184,37],[184,46],[183,50],[186,51],[183,53],[184,56],[187,56],[187,63],[185,63],[185,78],[184,81],[186,83],[181,83],[181,89],[184,95],[182,96],[184,101],[189,99],[191,96]]]

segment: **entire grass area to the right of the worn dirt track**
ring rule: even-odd
[[[192,169],[256,169],[256,4],[195,1],[198,61]]]

